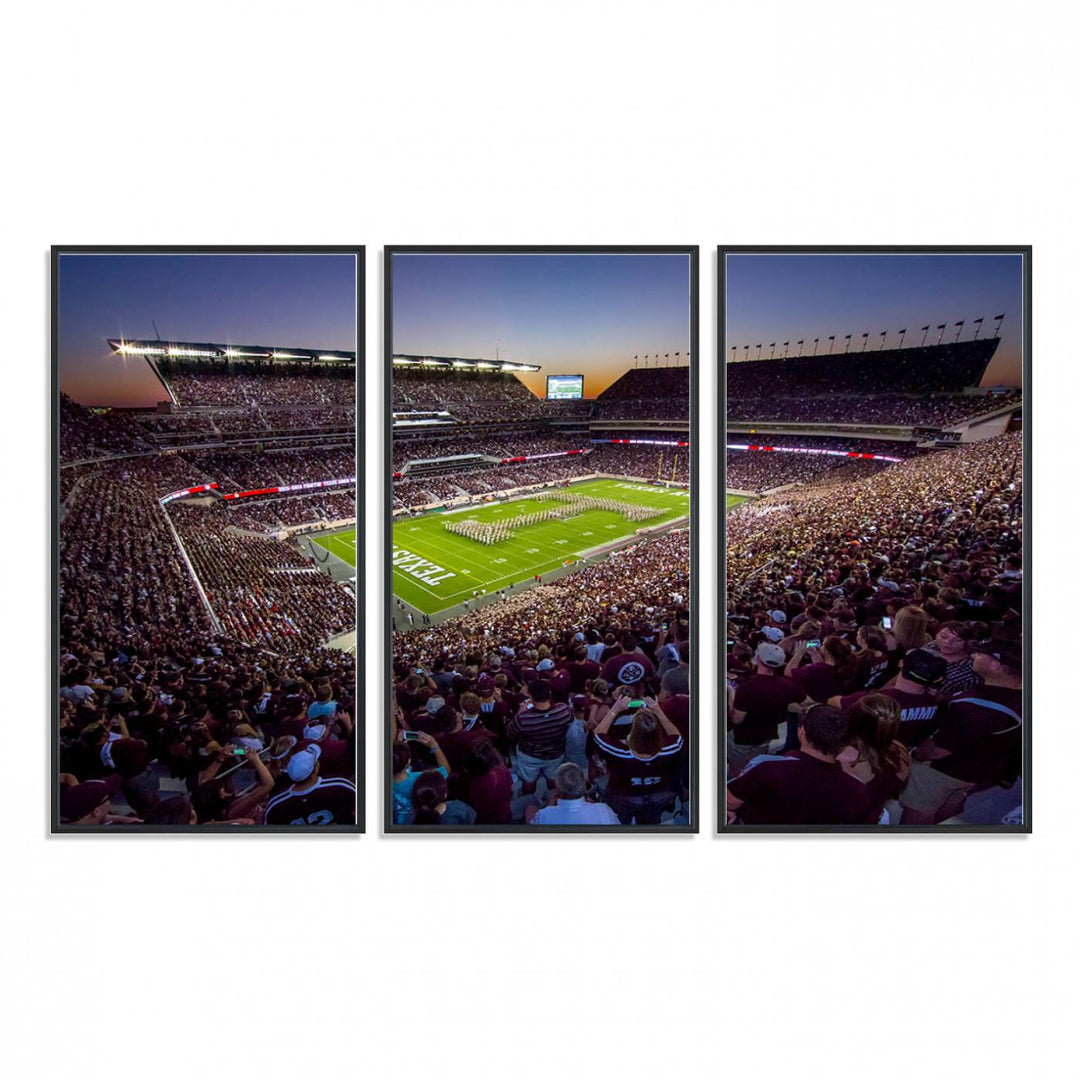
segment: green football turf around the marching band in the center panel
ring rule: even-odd
[[[467,518],[513,522],[521,514],[565,503],[541,491],[511,502],[401,518],[393,528],[394,595],[419,611],[434,615],[471,599],[474,590],[494,592],[527,581],[595,548],[631,538],[639,528],[678,521],[690,512],[689,491],[650,487],[637,481],[586,481],[559,490],[656,507],[663,514],[632,522],[616,511],[588,510],[564,521],[524,526],[514,537],[494,544],[448,532],[444,526]]]

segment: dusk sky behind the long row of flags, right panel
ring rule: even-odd
[[[821,339],[819,353],[836,335],[834,349],[842,351],[843,336],[851,334],[851,349],[876,349],[879,334],[888,330],[886,348],[897,345],[899,330],[907,329],[905,346],[922,340],[920,327],[930,324],[928,343],[937,339],[935,327],[947,323],[943,340],[956,335],[954,323],[964,320],[961,340],[974,335],[973,322],[984,318],[980,337],[994,333],[994,316],[1005,313],[998,346],[984,386],[1020,386],[1023,342],[1023,259],[1020,255],[729,255],[727,256],[727,342],[751,347],[750,357],[769,354],[769,342],[807,345]]]

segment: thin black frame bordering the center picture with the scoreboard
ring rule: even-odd
[[[382,831],[391,836],[424,836],[431,834],[497,835],[513,836],[528,834],[531,836],[581,835],[581,836],[677,836],[692,835],[700,831],[701,821],[701,780],[699,775],[699,667],[700,660],[694,659],[690,667],[690,812],[689,822],[685,825],[544,825],[534,827],[528,824],[510,825],[397,825],[393,820],[392,791],[392,740],[390,738],[393,712],[393,573],[391,569],[391,549],[393,546],[393,482],[390,477],[393,460],[393,258],[395,255],[684,255],[690,260],[689,266],[689,319],[690,319],[690,639],[697,640],[699,627],[698,591],[698,523],[700,517],[698,484],[698,379],[700,372],[699,354],[699,255],[697,244],[692,245],[454,245],[454,244],[390,244],[383,248],[383,534],[382,534],[382,571],[383,571],[383,723],[380,725],[380,735],[383,742],[382,760]]]

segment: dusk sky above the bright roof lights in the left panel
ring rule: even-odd
[[[60,389],[85,405],[164,399],[146,361],[106,338],[356,348],[352,255],[62,255]]]

